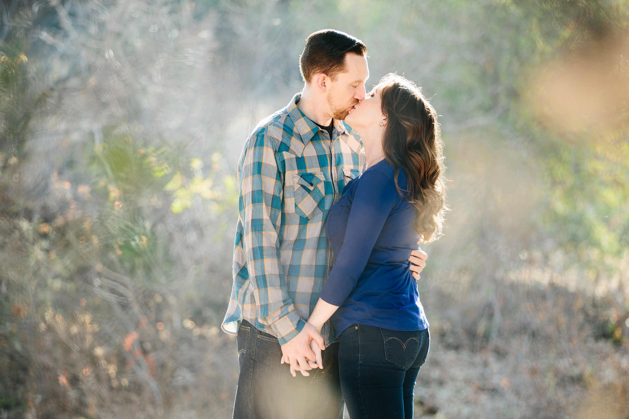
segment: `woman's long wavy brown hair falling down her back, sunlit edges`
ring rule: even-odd
[[[415,206],[415,226],[424,243],[441,235],[445,206],[443,143],[437,113],[420,87],[397,74],[380,81],[382,114],[387,117],[382,150],[396,168],[399,194]],[[399,168],[404,169],[407,189],[398,185]]]

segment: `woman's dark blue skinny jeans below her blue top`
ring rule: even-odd
[[[413,419],[413,388],[430,346],[428,329],[355,324],[343,331],[338,368],[352,419]]]

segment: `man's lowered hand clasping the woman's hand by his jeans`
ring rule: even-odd
[[[311,342],[315,344],[311,345]],[[316,366],[323,368],[321,363],[321,350],[325,349],[323,337],[310,323],[306,323],[299,334],[282,345],[282,361],[291,364],[291,374],[295,377],[295,371],[301,371],[301,375],[309,376],[309,369],[313,369],[308,361],[316,362]]]

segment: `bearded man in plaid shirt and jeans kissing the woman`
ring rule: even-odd
[[[333,264],[328,211],[365,169],[361,144],[342,120],[365,98],[366,53],[347,33],[310,35],[299,58],[303,92],[245,142],[234,284],[223,320],[223,330],[238,335],[235,419],[343,416],[338,342],[329,323],[321,338],[306,320]],[[425,259],[421,250],[409,258],[416,278]],[[283,357],[290,366],[280,364]],[[291,377],[290,367],[301,375]]]

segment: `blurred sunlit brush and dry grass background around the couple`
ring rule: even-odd
[[[626,1],[0,13],[1,418],[231,417],[236,162],[323,28],[440,115],[452,211],[418,281],[416,417],[629,417]]]

